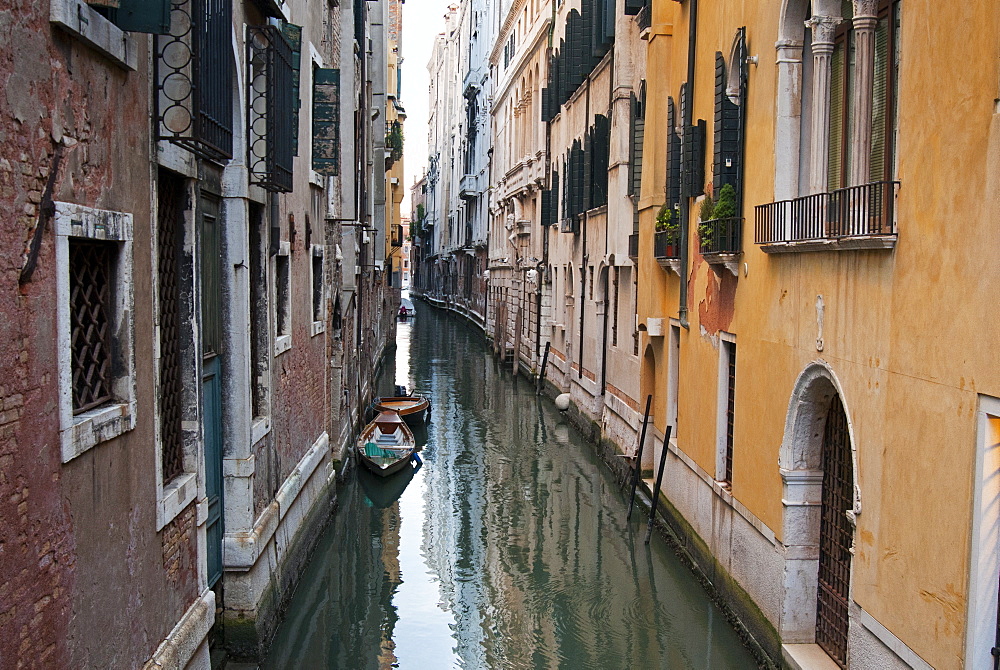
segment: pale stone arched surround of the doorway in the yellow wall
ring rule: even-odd
[[[831,436],[827,431],[827,418],[837,414],[836,411],[831,413],[832,407],[836,409],[835,403],[843,408],[842,426],[838,428],[843,439],[849,443],[849,456],[845,455],[849,458],[849,465],[845,464],[846,472],[843,474],[845,478],[850,478],[853,499],[849,504],[851,509],[843,512],[844,518],[850,520],[851,538],[854,520],[861,513],[857,448],[848,403],[833,369],[825,361],[816,361],[807,366],[795,382],[778,455],[784,507],[782,542],[785,546],[780,633],[785,644],[817,641],[824,442],[829,450]]]

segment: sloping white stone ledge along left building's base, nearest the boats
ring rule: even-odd
[[[274,500],[257,517],[253,529],[249,532],[226,533],[222,540],[222,562],[226,570],[249,570],[257,563],[264,547],[277,531],[278,524],[288,514],[329,447],[330,437],[324,432],[289,473]]]

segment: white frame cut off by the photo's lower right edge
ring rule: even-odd
[[[979,396],[965,667],[990,668],[1000,578],[1000,398]]]

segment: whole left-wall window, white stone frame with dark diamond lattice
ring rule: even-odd
[[[132,215],[57,202],[64,463],[135,427]]]

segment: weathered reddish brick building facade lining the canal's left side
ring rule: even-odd
[[[94,5],[2,26],[0,666],[209,667],[266,647],[393,336],[388,0]]]

